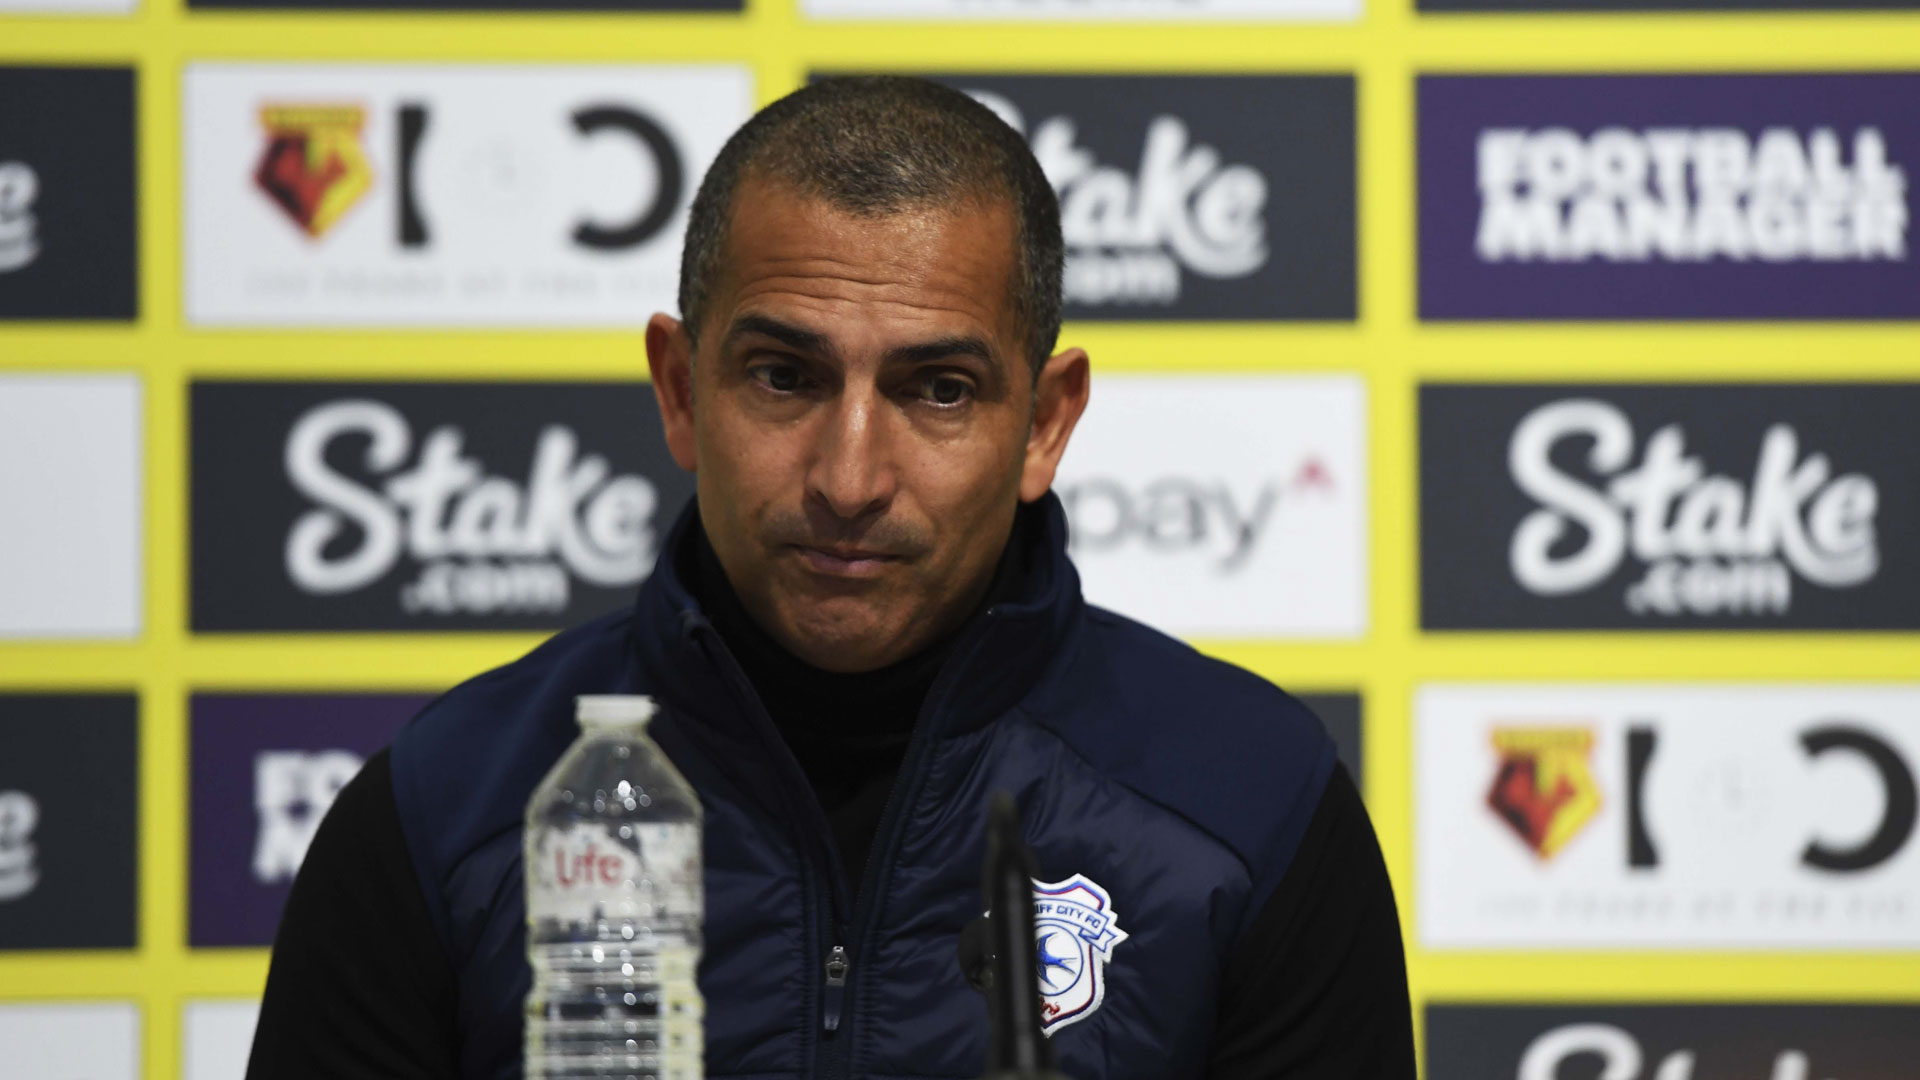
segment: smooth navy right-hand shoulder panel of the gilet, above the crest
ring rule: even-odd
[[[1319,717],[1273,682],[1123,615],[1089,607],[1085,626],[1035,701],[1035,723],[1231,847],[1256,878],[1283,872],[1334,767]]]

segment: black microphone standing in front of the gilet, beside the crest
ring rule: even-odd
[[[979,986],[975,974],[981,969],[987,972],[987,1080],[1066,1080],[1054,1072],[1054,1047],[1041,1032],[1033,878],[1033,853],[1020,838],[1014,796],[995,792],[987,803],[987,867],[981,876],[987,934],[973,930],[977,920],[960,934],[960,965],[968,980]],[[987,963],[981,963],[981,938],[991,947]]]

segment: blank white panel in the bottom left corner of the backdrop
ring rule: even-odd
[[[0,1005],[0,1076],[134,1080],[140,1011],[131,1001]]]

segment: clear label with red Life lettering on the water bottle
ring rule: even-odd
[[[620,836],[620,832],[628,836]],[[578,822],[528,844],[528,919],[691,919],[703,915],[701,830],[691,822]]]

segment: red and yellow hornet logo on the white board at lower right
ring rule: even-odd
[[[1494,728],[1494,751],[1500,771],[1486,805],[1534,855],[1551,859],[1599,813],[1599,784],[1588,769],[1590,728]]]

